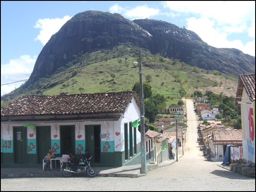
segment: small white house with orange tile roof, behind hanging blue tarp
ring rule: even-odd
[[[215,161],[223,160],[227,145],[235,145],[231,149],[231,159],[243,159],[241,129],[214,130],[212,132],[211,151],[215,156]]]

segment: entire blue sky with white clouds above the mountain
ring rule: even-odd
[[[166,21],[194,31],[210,46],[255,56],[255,1],[1,1],[1,96],[29,79],[62,25],[89,10]]]

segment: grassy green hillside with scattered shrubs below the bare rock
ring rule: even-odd
[[[139,66],[134,64],[136,61],[139,62],[137,50],[139,49],[133,49],[128,45],[120,45],[112,50],[81,53],[65,67],[58,69],[55,74],[41,77],[28,88],[21,86],[2,96],[1,107],[18,96],[27,94],[131,91],[134,83],[139,82]],[[142,50],[142,77],[143,81],[151,85],[153,94],[163,94],[169,100],[167,104],[177,103],[172,100],[181,98],[179,91],[182,88],[186,91],[184,97],[191,97],[192,93],[200,88],[217,90],[228,80],[228,85],[232,85],[231,81],[234,88],[227,87],[227,94],[234,94],[238,82],[238,77],[224,75],[219,71],[199,69],[179,60],[163,58],[158,54],[151,55],[147,50]],[[147,81],[146,77],[151,78]]]

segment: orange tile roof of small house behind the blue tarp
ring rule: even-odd
[[[214,130],[212,138],[217,145],[242,145],[242,129]]]

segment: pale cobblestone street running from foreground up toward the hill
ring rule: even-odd
[[[202,156],[191,100],[186,100],[186,107],[189,128],[184,155],[172,165],[150,170],[138,178],[1,179],[1,191],[255,191],[255,178],[225,170],[217,166],[221,162],[209,162]]]

